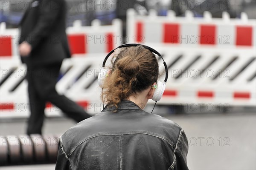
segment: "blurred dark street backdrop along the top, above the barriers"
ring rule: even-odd
[[[17,28],[30,1],[1,1],[0,21],[5,22],[7,28]],[[140,14],[148,14],[150,9],[155,9],[159,16],[166,16],[170,9],[176,12],[176,16],[184,16],[186,10],[190,10],[195,17],[203,17],[204,11],[209,11],[212,17],[218,18],[222,17],[223,11],[228,12],[231,18],[240,18],[241,12],[245,12],[248,18],[256,19],[255,0],[66,0],[66,2],[67,26],[72,26],[75,20],[81,20],[83,26],[90,26],[94,19],[101,20],[102,25],[109,25],[114,18],[125,19],[126,10],[129,8],[136,9]]]

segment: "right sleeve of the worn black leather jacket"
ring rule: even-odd
[[[180,135],[174,150],[176,157],[176,165],[178,170],[189,170],[187,167],[186,156],[188,154],[189,144],[186,134],[183,129],[180,130]]]

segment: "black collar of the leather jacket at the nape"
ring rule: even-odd
[[[128,100],[122,100],[119,104],[118,104],[118,108],[117,110],[127,110],[127,109],[140,109],[140,107],[135,104],[134,102],[132,101],[128,101]],[[106,112],[106,111],[111,111],[111,110],[116,110],[116,107],[115,106],[112,106],[112,107],[108,107],[108,104],[107,106],[105,106],[105,108],[102,110],[102,112]]]

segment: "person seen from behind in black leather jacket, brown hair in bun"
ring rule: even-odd
[[[143,110],[157,88],[157,58],[141,45],[115,56],[102,89],[106,107],[61,136],[55,170],[188,170],[184,130]]]

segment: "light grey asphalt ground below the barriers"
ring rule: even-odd
[[[190,170],[255,170],[256,113],[190,113],[164,115],[185,130]],[[19,135],[25,119],[0,121],[0,135]],[[62,134],[75,124],[67,118],[47,118],[43,132]],[[0,170],[53,170],[54,164],[0,167]]]

